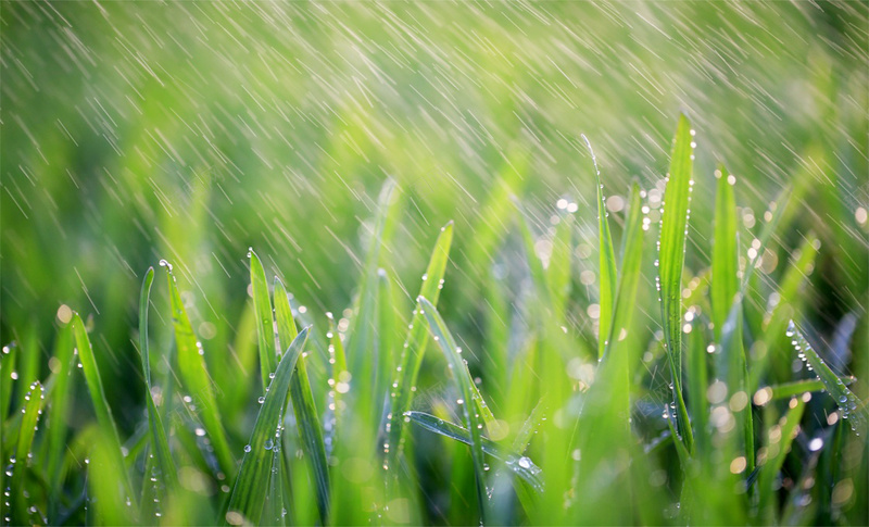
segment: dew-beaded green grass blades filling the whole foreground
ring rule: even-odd
[[[231,385],[231,372],[238,366],[226,371],[219,360],[209,361],[173,268],[161,262],[168,271],[168,304],[155,309],[172,321],[175,352],[156,362],[160,366],[167,361],[168,368],[154,369],[148,331],[154,271],[148,268],[138,331],[147,412],[141,418],[142,431],[122,441],[104,389],[106,375],[98,366],[88,328],[73,313],[68,327],[75,348],[64,337],[70,329],[62,327],[46,388],[34,382],[21,399],[22,411],[5,415],[2,444],[14,452],[10,459],[15,460],[8,473],[9,486],[14,489],[5,509],[8,522],[329,525],[378,518],[389,524],[428,523],[437,522],[437,515],[431,516],[437,511],[431,492],[438,492],[439,486],[452,487],[453,497],[459,499],[450,504],[451,517],[474,518],[475,523],[767,524],[861,517],[860,474],[867,461],[859,452],[866,444],[861,439],[867,432],[866,409],[847,387],[860,386],[861,380],[832,372],[793,322],[786,338],[807,362],[807,378],[778,376],[776,368],[768,367],[776,355],[746,353],[758,342],[776,342],[765,334],[745,331],[743,328],[755,323],[751,318],[759,314],[763,324],[780,328],[777,321],[782,315],[777,314],[779,305],[755,312],[747,303],[754,266],[761,264],[739,256],[740,229],[733,221],[738,216],[735,181],[725,168],[718,173],[711,274],[702,278],[708,279],[708,287],[694,292],[696,285],[685,285],[690,143],[696,140],[689,130],[688,120],[681,116],[670,179],[663,195],[666,209],[659,260],[653,267],[660,284],[663,335],[652,335],[648,340],[642,325],[634,324],[634,315],[641,311],[635,298],[648,230],[648,223],[642,221],[644,201],[638,185],[631,188],[621,224],[620,265],[615,261],[605,205],[599,208],[601,265],[609,269],[602,275],[602,280],[608,277],[604,280],[608,285],[600,284],[600,294],[610,297],[599,304],[600,310],[609,310],[609,322],[595,328],[599,336],[594,341],[603,347],[600,357],[594,346],[565,348],[579,342],[575,338],[592,337],[563,329],[572,302],[572,280],[564,274],[565,267],[572,269],[570,248],[577,240],[563,229],[552,229],[553,248],[546,256],[554,260],[544,263],[534,252],[539,242],[533,217],[519,208],[516,228],[530,251],[526,272],[537,291],[529,299],[529,309],[538,313],[531,318],[537,327],[528,334],[531,340],[519,355],[496,363],[511,369],[498,374],[511,386],[506,397],[499,399],[496,417],[486,401],[487,377],[475,378],[469,371],[478,363],[486,364],[487,357],[463,351],[427,298],[437,301],[444,277],[449,277],[453,224],[443,227],[434,242],[404,346],[390,349],[402,341],[394,339],[398,327],[391,321],[400,312],[389,292],[392,279],[380,267],[389,265],[381,251],[388,247],[388,224],[394,214],[390,211],[395,210],[394,186],[388,183],[361,278],[358,311],[351,314],[367,321],[363,337],[356,338],[368,344],[356,343],[344,351],[343,342],[352,341],[363,323],[354,325],[343,317],[338,324],[330,317],[325,330],[314,326],[298,332],[295,321],[307,319],[307,310],[291,304],[292,296],[279,278],[269,288],[261,260],[249,251],[253,309],[242,317],[253,313],[255,322],[239,327],[248,328],[250,339],[257,336],[264,391],[255,384]],[[604,203],[600,186],[596,201]],[[784,203],[768,215],[754,249],[763,251],[782,228]],[[567,221],[559,225],[574,231],[574,224]],[[809,240],[805,247],[808,255],[795,258],[784,271],[779,298],[794,302],[797,280],[791,273],[806,272],[807,259],[816,256],[809,251],[813,247]],[[504,305],[499,309],[503,311]],[[693,316],[685,317],[685,313]],[[603,321],[603,312],[600,318]],[[711,339],[708,346],[703,334]],[[442,351],[441,359],[425,360],[429,339]],[[14,360],[20,352],[8,348],[4,360]],[[75,384],[78,376],[79,368],[68,367],[73,353],[81,362],[88,388],[84,399],[92,409],[88,414],[92,412],[97,422],[96,428],[67,425],[73,443],[76,438],[92,438],[90,444],[78,447],[92,456],[80,468],[75,465],[76,449],[66,455],[56,452],[56,428],[40,432],[37,426],[41,410],[48,411],[52,422],[68,423],[56,413],[71,412],[60,394],[68,393],[70,382]],[[242,365],[236,374],[239,379],[254,374],[253,363],[242,361],[239,350],[235,353],[225,360]],[[252,351],[244,353],[256,356]],[[362,356],[353,359],[352,353]],[[318,363],[323,357],[327,363]],[[360,372],[355,376],[348,369],[353,361]],[[648,397],[644,393],[652,392],[644,378],[652,363],[667,365],[665,381],[671,386],[673,399],[664,405],[663,418],[650,419],[641,409]],[[224,369],[221,378],[228,385],[217,386],[209,374],[210,365]],[[426,367],[446,375],[442,396],[429,396],[427,401],[419,399],[416,388]],[[752,391],[750,374],[755,368],[763,368],[756,378],[769,384]],[[380,381],[380,376],[389,373],[394,378],[391,386]],[[247,392],[227,393],[239,388]],[[9,399],[9,388],[5,393]],[[241,406],[236,409],[239,400]],[[322,406],[324,401],[328,410]],[[430,411],[414,410],[417,407]],[[252,422],[243,417],[251,409],[255,411]],[[821,410],[822,414],[816,413]],[[826,423],[801,427],[810,414],[826,415]],[[231,426],[222,415],[241,417],[241,426]],[[418,425],[418,431],[407,423]],[[189,427],[196,428],[194,434]],[[60,429],[66,434],[66,428]],[[8,439],[10,432],[12,439]],[[658,438],[650,441],[650,435]],[[444,451],[436,437],[457,447]],[[804,439],[794,442],[796,438]],[[831,461],[824,461],[818,454],[821,449],[814,444],[833,440],[836,451],[830,454]],[[804,447],[797,449],[797,444]],[[439,466],[424,461],[440,455],[448,455],[452,475],[431,475]],[[21,461],[36,456],[38,462]],[[59,456],[66,461],[61,463]],[[307,461],[300,463],[300,456]],[[678,461],[673,464],[672,460]],[[468,472],[458,469],[463,466]],[[822,466],[824,472],[820,472]],[[56,474],[65,474],[61,484],[46,485],[49,475]],[[439,481],[439,477],[448,479]],[[85,478],[88,482],[83,487]],[[806,478],[820,479],[820,485],[816,482],[819,488],[805,490]],[[77,499],[79,495],[84,499]],[[824,505],[809,506],[815,500]],[[617,502],[618,507],[596,505]]]

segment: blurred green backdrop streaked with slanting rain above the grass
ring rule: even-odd
[[[820,237],[805,317],[826,339],[845,313],[865,321],[867,304],[867,12],[865,2],[3,2],[0,340],[30,342],[45,368],[62,306],[92,315],[129,427],[141,391],[118,388],[140,379],[130,328],[149,265],[175,264],[209,360],[228,360],[248,247],[323,322],[351,302],[387,178],[403,191],[387,256],[403,317],[454,219],[441,312],[463,346],[486,346],[475,291],[492,265],[509,264],[516,228],[487,226],[505,243],[499,255],[474,248],[481,209],[507,185],[540,229],[559,199],[577,203],[585,238],[571,319],[590,334],[596,292],[579,276],[596,267],[596,212],[579,135],[608,197],[634,178],[654,195],[680,111],[698,145],[689,268],[708,266],[716,163],[738,177],[745,247],[793,185],[776,250],[786,261],[807,233]],[[622,201],[608,201],[616,236]],[[781,267],[765,272],[758,298]],[[163,342],[166,313],[154,315]]]

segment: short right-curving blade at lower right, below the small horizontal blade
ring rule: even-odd
[[[798,425],[803,418],[803,411],[806,404],[802,398],[791,399],[788,414],[782,419],[770,427],[767,438],[767,461],[759,467],[757,476],[758,486],[758,510],[761,514],[761,523],[773,525],[776,515],[777,492],[774,488],[776,476],[784,465],[784,459],[791,451],[791,444],[799,431]]]

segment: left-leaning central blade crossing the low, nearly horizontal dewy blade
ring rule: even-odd
[[[486,509],[488,506],[488,498],[486,492],[486,478],[483,470],[482,457],[482,440],[480,439],[480,423],[476,409],[474,409],[473,401],[475,400],[475,386],[470,375],[467,375],[467,367],[458,347],[455,344],[452,334],[446,328],[446,325],[438,313],[437,308],[429,302],[425,297],[417,299],[423,310],[425,311],[426,318],[428,319],[429,330],[432,338],[446,359],[450,369],[453,371],[456,384],[458,385],[459,392],[462,393],[465,404],[462,404],[462,410],[465,416],[465,424],[470,430],[470,455],[474,462],[474,475],[477,480],[477,501],[480,506],[480,523],[486,523]]]

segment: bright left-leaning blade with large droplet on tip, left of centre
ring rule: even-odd
[[[160,265],[166,267],[167,271],[169,303],[175,328],[176,360],[182,385],[201,411],[202,424],[214,446],[214,452],[221,468],[225,473],[224,477],[231,479],[236,474],[236,459],[229,450],[229,443],[224,432],[223,421],[217,410],[214,386],[205,367],[202,343],[197,339],[193,327],[190,325],[190,318],[187,316],[184,303],[181,303],[181,296],[178,292],[178,285],[172,272],[172,264],[161,260]],[[219,478],[221,474],[217,476]]]

